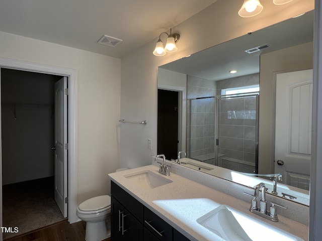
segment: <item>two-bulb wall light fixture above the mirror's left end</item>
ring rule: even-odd
[[[166,47],[164,47],[163,42],[161,40],[162,34],[168,35]],[[170,29],[170,34],[168,34],[167,32],[160,33],[159,39],[156,42],[153,54],[155,56],[164,56],[166,53],[176,52],[178,50],[176,43],[179,41],[179,39],[180,39],[180,34],[172,33],[172,29]]]

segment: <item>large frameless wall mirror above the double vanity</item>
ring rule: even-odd
[[[265,180],[270,193],[308,205],[313,19],[159,66],[157,153],[176,161],[185,151],[184,166],[251,187]]]

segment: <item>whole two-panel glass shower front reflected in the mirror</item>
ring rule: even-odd
[[[258,101],[255,92],[188,99],[188,157],[258,173]]]

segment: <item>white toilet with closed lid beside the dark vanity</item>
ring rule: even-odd
[[[106,225],[110,213],[111,197],[108,195],[93,197],[79,204],[77,217],[86,221],[86,241],[100,241],[111,236],[110,226]]]

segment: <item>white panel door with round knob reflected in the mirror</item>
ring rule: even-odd
[[[277,74],[275,173],[287,185],[309,189],[312,70]]]

